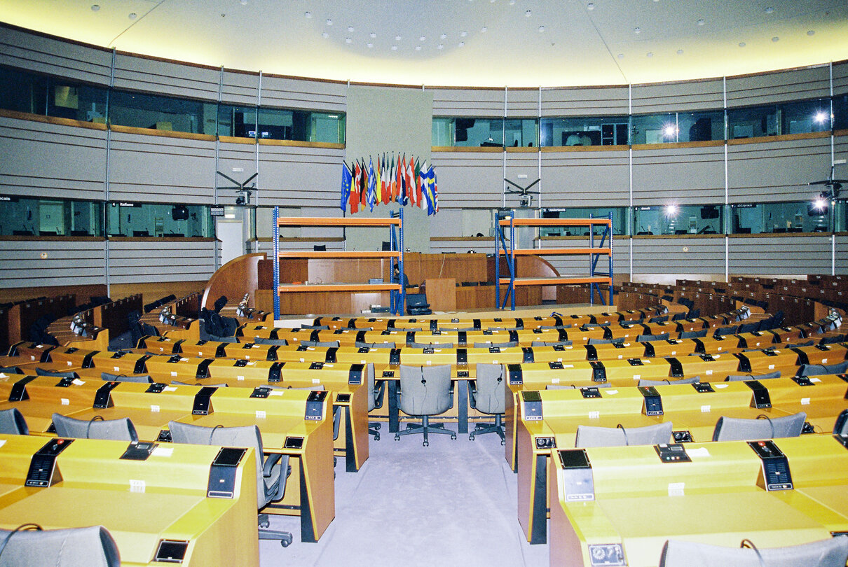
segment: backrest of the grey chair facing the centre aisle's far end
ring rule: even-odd
[[[450,365],[400,365],[400,409],[410,415],[442,414],[450,408]]]

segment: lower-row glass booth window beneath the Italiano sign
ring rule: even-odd
[[[215,233],[205,205],[109,203],[106,218],[109,236],[183,238]]]

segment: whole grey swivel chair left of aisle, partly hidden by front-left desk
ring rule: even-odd
[[[222,447],[252,448],[256,459],[256,509],[261,510],[268,503],[282,500],[286,493],[286,480],[291,472],[288,467],[288,455],[271,453],[265,459],[262,449],[262,435],[256,425],[243,427],[203,427],[179,421],[168,423],[171,439],[175,443],[194,445],[220,445]],[[263,461],[263,459],[265,459]],[[259,514],[259,539],[280,540],[283,548],[293,541],[287,531],[271,530],[268,514]]]

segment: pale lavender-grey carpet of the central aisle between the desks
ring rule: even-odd
[[[294,542],[259,542],[263,567],[548,565],[548,546],[528,544],[518,524],[517,475],[498,436],[432,435],[422,447],[421,436],[395,442],[386,430],[359,472],[338,460],[336,518],[319,542],[300,542],[297,517],[271,516]]]

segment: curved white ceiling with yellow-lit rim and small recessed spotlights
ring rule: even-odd
[[[589,86],[848,58],[845,0],[0,0],[120,51],[341,81]]]

